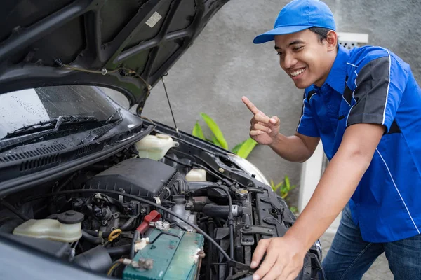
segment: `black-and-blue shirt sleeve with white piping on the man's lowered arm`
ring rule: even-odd
[[[385,125],[385,134],[389,132],[407,81],[408,73],[389,51],[363,65],[355,80],[356,103],[349,111],[347,126],[374,123]]]

